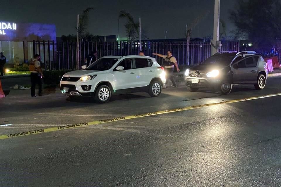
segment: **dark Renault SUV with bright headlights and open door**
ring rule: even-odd
[[[234,84],[265,87],[268,71],[265,60],[254,51],[223,51],[185,72],[185,84],[190,91],[210,88],[222,94],[231,92]]]

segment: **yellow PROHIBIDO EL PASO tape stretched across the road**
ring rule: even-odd
[[[85,123],[64,125],[64,126],[47,128],[47,129],[38,129],[38,130],[24,131],[24,132],[19,132],[19,133],[0,135],[0,139],[14,138],[14,137],[25,136],[25,135],[30,135],[30,134],[40,134],[40,133],[43,133],[43,132],[58,131],[58,130],[62,130],[62,129],[70,129],[70,128],[75,128],[75,127],[84,127],[84,126],[87,126],[87,125],[96,125],[96,124],[107,123],[107,122],[114,122],[114,121],[120,121],[120,120],[129,120],[129,119],[134,119],[134,118],[138,118],[138,117],[146,117],[146,116],[152,116],[152,115],[159,115],[159,114],[165,114],[165,113],[170,113],[170,112],[178,112],[178,111],[183,111],[183,110],[190,110],[190,109],[194,109],[194,108],[202,108],[202,107],[221,105],[221,104],[227,104],[227,103],[236,103],[236,102],[241,102],[241,101],[249,101],[249,100],[253,100],[253,99],[261,99],[261,98],[280,96],[280,95],[281,95],[281,93],[275,93],[275,94],[270,94],[270,95],[265,95],[265,96],[250,97],[250,98],[236,99],[236,100],[230,100],[230,101],[223,101],[223,102],[220,102],[220,103],[210,103],[210,104],[205,104],[205,105],[189,106],[189,107],[185,107],[185,108],[175,108],[175,109],[172,109],[172,110],[163,110],[163,111],[158,111],[158,112],[149,112],[149,113],[145,113],[145,114],[137,114],[137,115],[131,115],[131,116],[116,117],[116,118],[105,119],[105,120],[98,120],[98,121],[93,121],[93,122],[85,122]]]

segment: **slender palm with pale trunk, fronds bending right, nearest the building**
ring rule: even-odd
[[[82,11],[81,14],[79,14],[79,24],[78,27],[76,27],[77,30],[77,41],[80,41],[81,38],[84,37],[88,23],[89,23],[89,12],[93,9],[93,7],[88,7],[85,10]],[[77,52],[76,52],[76,69],[79,69],[79,42],[77,42]]]

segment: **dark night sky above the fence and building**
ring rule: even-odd
[[[4,2],[3,2],[4,1]],[[220,17],[227,23],[228,31],[233,29],[229,22],[229,10],[235,6],[234,0],[220,2]],[[142,28],[150,39],[184,38],[185,25],[199,14],[210,10],[209,15],[193,30],[192,37],[204,37],[213,33],[214,0],[2,0],[2,21],[55,24],[57,36],[75,34],[76,16],[88,6],[90,12],[88,30],[95,35],[117,35],[118,13],[126,10],[135,20],[141,17]],[[120,21],[120,37],[126,37],[124,24]]]

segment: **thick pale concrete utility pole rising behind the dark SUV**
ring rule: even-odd
[[[212,43],[216,46],[212,46],[212,55],[218,52],[220,49],[220,0],[215,0],[215,11],[214,11],[214,35]]]

